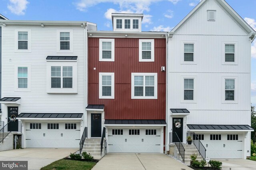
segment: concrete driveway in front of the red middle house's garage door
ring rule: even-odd
[[[192,170],[166,154],[107,154],[92,170]]]

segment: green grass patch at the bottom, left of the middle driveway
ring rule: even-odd
[[[41,170],[90,170],[96,162],[60,159],[44,166]]]

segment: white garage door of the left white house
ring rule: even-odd
[[[26,123],[26,148],[78,148],[80,123]]]

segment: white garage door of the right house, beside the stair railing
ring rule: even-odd
[[[208,158],[243,158],[244,137],[242,134],[204,134],[201,140]]]

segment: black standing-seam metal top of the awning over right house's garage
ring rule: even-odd
[[[254,130],[249,125],[187,125],[190,130]]]

